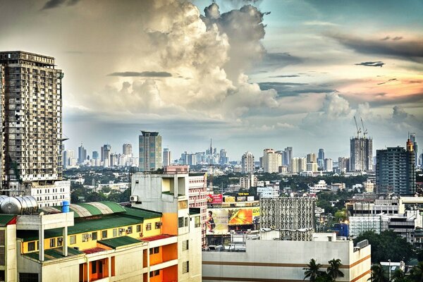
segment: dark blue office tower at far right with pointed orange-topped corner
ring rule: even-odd
[[[376,190],[380,193],[413,195],[415,193],[415,164],[412,142],[407,149],[388,147],[376,150]]]

